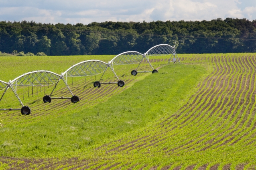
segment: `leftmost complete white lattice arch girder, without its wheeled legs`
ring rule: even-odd
[[[20,75],[16,79],[12,80],[12,85],[17,86],[48,86],[57,83],[60,75],[51,71],[32,71]]]

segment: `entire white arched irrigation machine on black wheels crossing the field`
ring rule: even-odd
[[[17,97],[18,101],[22,105],[21,109],[0,109],[0,111],[17,111],[20,110],[22,115],[29,115],[31,113],[31,110],[28,106],[24,106],[20,98],[17,94],[17,86],[23,86],[23,97],[24,97],[24,87],[32,86],[32,94],[33,94],[33,88],[34,87],[40,87],[40,90],[42,90],[42,87],[54,85],[54,88],[50,95],[45,95],[43,97],[44,103],[51,103],[52,99],[71,99],[72,103],[77,103],[79,101],[79,97],[76,95],[73,95],[71,89],[69,88],[69,85],[67,84],[68,77],[82,77],[82,76],[93,76],[98,75],[102,73],[102,76],[99,81],[95,81],[93,83],[94,87],[101,87],[102,84],[113,84],[116,83],[118,87],[124,86],[124,81],[120,80],[118,76],[116,75],[114,71],[114,65],[125,65],[125,64],[137,64],[138,67],[135,70],[132,70],[132,75],[137,75],[138,73],[144,73],[144,72],[152,72],[157,73],[158,71],[152,67],[149,61],[149,56],[157,56],[157,55],[171,55],[168,64],[171,61],[171,58],[173,57],[173,63],[176,63],[177,59],[180,63],[179,57],[175,51],[175,46],[171,46],[168,44],[160,44],[156,45],[152,48],[150,48],[146,53],[142,54],[137,51],[127,51],[124,53],[121,53],[114,57],[111,61],[108,63],[105,63],[100,60],[87,60],[82,61],[80,63],[77,63],[73,66],[71,66],[69,69],[67,69],[64,73],[61,73],[61,75],[58,75],[56,73],[53,73],[51,71],[31,71],[28,73],[25,73],[23,75],[20,75],[14,80],[10,80],[8,83],[0,80],[0,91],[4,91],[2,94],[0,101],[4,97],[4,94],[6,91],[10,88],[12,89],[13,93]],[[175,58],[175,56],[177,58]],[[152,71],[137,71],[140,64],[144,61],[144,59],[148,62],[150,67],[152,68]],[[110,67],[112,72],[114,73],[115,77],[118,79],[117,82],[100,82],[102,80],[102,77],[106,70]],[[59,81],[63,80],[65,83],[67,89],[71,93],[72,97],[51,97],[53,94],[53,91],[56,89]],[[28,90],[28,96],[29,96],[29,90]]]

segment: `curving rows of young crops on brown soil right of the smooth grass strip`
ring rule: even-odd
[[[148,127],[92,149],[88,153],[93,155],[90,158],[81,155],[78,159],[50,160],[50,164],[46,163],[49,160],[33,159],[26,160],[27,163],[32,164],[30,167],[37,164],[51,168],[111,170],[255,168],[256,55],[196,54],[181,57],[181,62],[206,65],[211,73],[191,89],[195,92],[177,112],[171,113],[168,106],[161,106],[161,111],[170,114]],[[126,81],[136,79],[127,77]],[[77,87],[82,84],[79,82]],[[97,92],[87,89],[85,94],[93,94],[93,103],[98,95],[116,91],[108,87]],[[61,91],[63,89],[57,94]],[[12,119],[10,117],[8,119]],[[10,158],[4,159],[10,162]],[[21,164],[27,165],[26,161]]]

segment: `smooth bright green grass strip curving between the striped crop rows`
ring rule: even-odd
[[[105,103],[35,124],[2,128],[2,156],[74,156],[173,114],[206,73],[200,65],[168,65]]]

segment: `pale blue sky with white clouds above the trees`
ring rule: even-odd
[[[122,21],[256,20],[256,0],[0,0],[0,21],[89,24]]]

